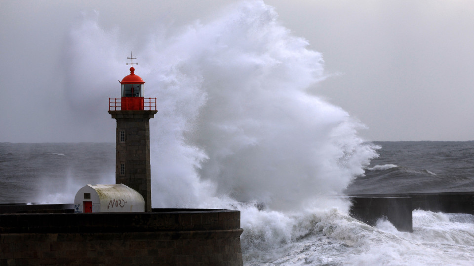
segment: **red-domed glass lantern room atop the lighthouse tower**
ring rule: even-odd
[[[121,109],[144,110],[145,81],[135,74],[135,68],[130,67],[130,75],[125,76],[121,84]]]

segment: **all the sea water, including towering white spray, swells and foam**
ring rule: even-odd
[[[72,108],[91,117],[117,95],[107,80],[123,72],[128,51],[97,21],[85,17],[71,29],[63,73]],[[390,144],[358,137],[363,125],[313,93],[327,75],[322,55],[281,26],[272,7],[236,3],[212,21],[163,27],[142,40],[137,54],[146,56],[136,72],[147,95],[158,97],[150,123],[154,207],[238,206],[246,265],[473,264],[470,215],[415,211],[413,233],[347,215],[350,203],[338,196],[348,192],[420,190],[420,180],[452,191],[468,189],[472,177],[466,170],[452,182],[453,173],[441,173],[453,163],[443,166],[444,149],[431,150],[440,158],[436,167],[411,165],[385,157]],[[108,62],[107,71],[89,64],[97,58]],[[376,161],[377,150],[385,162]],[[427,151],[407,152],[423,160]],[[113,144],[4,143],[0,154],[2,202],[67,203],[84,184],[114,183]]]

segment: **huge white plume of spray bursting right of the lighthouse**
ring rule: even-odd
[[[161,98],[154,202],[196,205],[212,195],[300,208],[340,195],[375,156],[356,121],[308,93],[324,78],[322,57],[273,8],[244,2],[169,39],[150,48],[164,62],[146,78]]]

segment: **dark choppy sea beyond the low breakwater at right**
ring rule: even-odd
[[[347,193],[474,191],[474,141],[375,143],[382,156],[371,161]]]

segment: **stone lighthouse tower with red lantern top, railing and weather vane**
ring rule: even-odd
[[[109,98],[109,114],[117,120],[116,184],[136,190],[152,210],[150,172],[150,119],[157,113],[157,99],[145,98],[145,81],[135,74],[132,56],[130,74],[121,84],[121,98]]]

